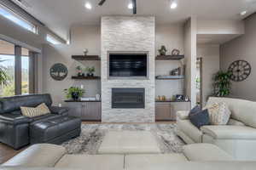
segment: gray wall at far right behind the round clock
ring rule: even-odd
[[[231,96],[241,99],[256,100],[256,14],[245,20],[245,34],[224,43],[220,51],[220,67],[227,70],[237,60],[247,60],[252,66],[251,75],[243,82],[232,82]]]

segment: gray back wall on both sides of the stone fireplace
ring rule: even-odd
[[[63,89],[70,86],[84,85],[85,96],[95,96],[101,93],[101,83],[99,81],[74,81],[70,77],[75,74],[77,65],[95,65],[96,75],[101,74],[100,62],[78,62],[71,59],[73,54],[83,54],[84,48],[89,49],[89,54],[101,53],[101,31],[100,26],[73,26],[71,29],[70,45],[44,45],[44,83],[43,92],[52,94],[54,104],[65,104]],[[183,54],[183,25],[160,25],[155,28],[155,48],[166,45],[167,54],[171,54],[173,48],[178,48]],[[157,53],[157,52],[156,52]],[[67,65],[68,76],[64,81],[57,82],[49,77],[49,68],[55,63]],[[156,74],[168,74],[173,68],[179,65],[176,61],[157,61]],[[42,72],[41,72],[42,73]],[[174,94],[183,93],[183,83],[181,81],[159,81],[156,82],[155,95],[166,95],[171,98]],[[166,89],[168,92],[166,93]]]

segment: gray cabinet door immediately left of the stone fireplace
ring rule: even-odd
[[[102,103],[85,102],[83,105],[82,119],[86,121],[102,120]]]

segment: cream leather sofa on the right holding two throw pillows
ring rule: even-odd
[[[207,105],[213,102],[229,105],[231,117],[228,125],[198,129],[189,121],[189,111],[177,111],[177,135],[187,144],[216,144],[236,160],[256,161],[256,102],[212,97]]]

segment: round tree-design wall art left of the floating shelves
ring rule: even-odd
[[[64,80],[67,77],[67,66],[56,63],[49,69],[49,75],[56,81]]]

